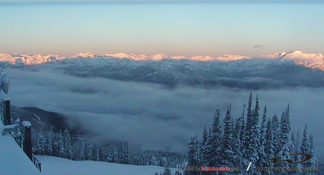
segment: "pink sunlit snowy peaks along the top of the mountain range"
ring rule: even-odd
[[[72,60],[71,60],[72,59]],[[165,54],[157,54],[153,56],[147,55],[136,55],[136,54],[127,54],[127,53],[115,53],[115,54],[105,54],[105,55],[97,55],[92,53],[79,53],[74,56],[65,57],[59,55],[18,55],[18,54],[4,54],[0,53],[0,62],[2,65],[36,65],[42,63],[48,63],[52,61],[64,60],[63,62],[74,62],[74,59],[98,59],[97,63],[102,63],[102,59],[104,60],[133,60],[133,61],[161,61],[161,60],[187,60],[187,61],[219,61],[219,62],[231,62],[238,60],[253,60],[255,62],[292,62],[296,65],[301,65],[304,67],[312,68],[312,69],[320,69],[324,71],[324,56],[322,54],[308,54],[303,53],[299,50],[291,50],[283,53],[276,53],[273,55],[260,55],[255,58],[250,58],[247,56],[241,55],[228,55],[224,54],[219,57],[210,57],[210,56],[194,56],[194,57],[185,57],[185,56],[166,56]],[[93,63],[96,63],[93,61]],[[249,62],[251,63],[251,62]]]

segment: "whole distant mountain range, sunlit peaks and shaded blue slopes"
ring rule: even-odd
[[[1,67],[38,69],[46,67],[42,66],[44,63],[55,71],[74,76],[151,82],[169,87],[179,84],[244,89],[324,87],[323,54],[299,50],[255,58],[227,54],[220,57],[94,55],[89,52],[71,57],[0,54]]]

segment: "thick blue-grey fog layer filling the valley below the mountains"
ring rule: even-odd
[[[150,83],[122,82],[105,78],[81,78],[50,69],[4,69],[10,73],[8,94],[11,104],[35,106],[68,115],[71,127],[80,125],[88,136],[102,142],[129,140],[131,147],[185,152],[190,136],[201,135],[211,125],[216,108],[222,120],[228,104],[234,119],[247,104],[249,90],[203,89],[177,86],[166,89]],[[253,91],[259,94],[260,108],[268,115],[290,103],[292,129],[304,128],[315,137],[317,157],[324,161],[324,88],[295,87]],[[78,119],[75,122],[72,119]],[[74,121],[74,122],[72,122]]]

